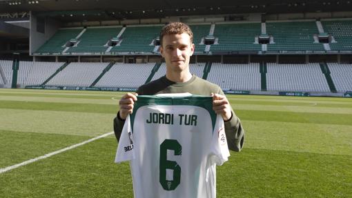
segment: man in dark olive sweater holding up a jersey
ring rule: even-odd
[[[189,70],[193,55],[193,32],[180,22],[169,23],[160,33],[160,54],[166,62],[166,75],[138,88],[137,93],[127,93],[119,101],[120,110],[114,119],[117,140],[121,136],[126,117],[133,112],[136,95],[189,92],[193,95],[213,96],[213,110],[222,115],[228,148],[239,152],[244,143],[244,129],[233,112],[228,99],[219,86],[192,75]]]

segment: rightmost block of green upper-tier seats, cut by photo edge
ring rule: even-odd
[[[333,36],[335,43],[330,43],[331,50],[352,50],[352,21],[322,21],[324,32]]]

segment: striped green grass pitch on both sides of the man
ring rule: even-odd
[[[0,89],[0,168],[113,131],[121,92]],[[228,95],[246,130],[217,197],[351,197],[352,100]],[[0,197],[133,197],[113,135],[0,174]]]

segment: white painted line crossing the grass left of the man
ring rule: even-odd
[[[51,157],[52,155],[57,155],[57,154],[59,154],[59,153],[61,153],[61,152],[65,152],[66,150],[71,150],[71,149],[73,149],[73,148],[77,148],[77,147],[82,146],[82,145],[84,145],[84,144],[86,144],[86,143],[90,143],[91,141],[95,141],[95,140],[97,140],[97,139],[101,139],[101,138],[106,137],[106,136],[108,136],[108,135],[112,135],[113,133],[114,133],[114,132],[108,132],[108,133],[106,133],[106,134],[104,134],[104,135],[100,135],[100,136],[98,136],[98,137],[94,137],[94,138],[92,138],[92,139],[88,139],[88,140],[83,141],[83,142],[81,142],[81,143],[76,143],[76,144],[74,144],[74,145],[72,145],[72,146],[68,146],[68,147],[66,147],[66,148],[63,148],[63,149],[60,149],[60,150],[57,150],[57,151],[54,151],[54,152],[49,152],[49,153],[46,154],[46,155],[42,155],[42,156],[40,156],[40,157],[36,157],[36,158],[30,159],[30,160],[27,160],[27,161],[23,161],[23,162],[20,163],[20,164],[14,164],[13,166],[8,166],[8,167],[6,167],[6,168],[0,168],[0,174],[3,173],[3,172],[7,172],[7,171],[9,171],[9,170],[12,170],[12,169],[14,169],[14,168],[19,168],[19,167],[21,167],[21,166],[26,166],[27,164],[31,164],[31,163],[33,163],[33,162],[35,162],[35,161],[40,160],[40,159],[46,159],[46,158],[48,158],[48,157]]]

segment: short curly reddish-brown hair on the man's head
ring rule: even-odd
[[[165,35],[170,35],[170,34],[182,34],[186,33],[190,37],[190,43],[193,43],[193,32],[190,30],[190,27],[187,26],[185,23],[182,22],[173,22],[173,23],[168,23],[164,28],[162,28],[162,31],[160,32],[159,40],[160,40],[160,46],[163,45],[163,37]]]

